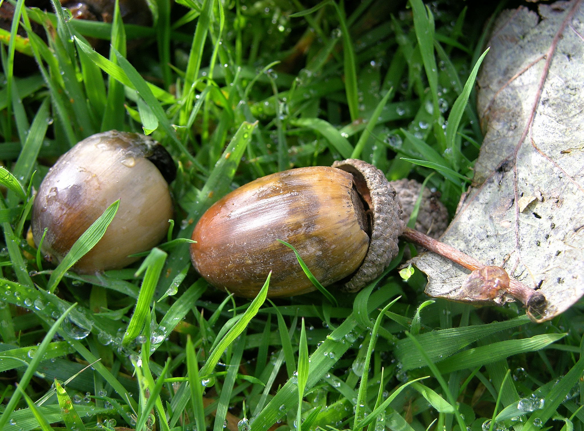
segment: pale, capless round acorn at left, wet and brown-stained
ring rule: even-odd
[[[74,266],[78,273],[119,269],[128,255],[157,245],[168,231],[173,206],[168,183],[176,168],[151,137],[116,130],[85,138],[63,154],[34,199],[31,228],[46,259],[61,262],[87,228],[117,199],[105,235]]]

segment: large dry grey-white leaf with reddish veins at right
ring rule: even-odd
[[[496,298],[523,296],[537,321],[584,294],[583,34],[580,0],[499,16],[478,77],[484,143],[442,237],[483,265],[502,266],[511,286]],[[458,265],[430,252],[413,263],[427,274],[430,296],[464,294],[468,272]],[[529,292],[512,293],[517,280]]]

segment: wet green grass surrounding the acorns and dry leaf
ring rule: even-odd
[[[399,258],[359,293],[329,288],[337,305],[266,301],[267,283],[250,302],[190,265],[206,208],[293,166],[359,157],[427,179],[452,215],[482,140],[472,90],[492,9],[158,0],[147,27],[15,5],[28,39],[2,33],[0,431],[582,430],[582,302],[536,325],[516,304],[428,301]],[[18,51],[38,71],[16,76]],[[68,269],[115,208],[55,268],[26,242],[32,195],[110,128],[171,152],[175,223],[164,251],[83,276]]]

